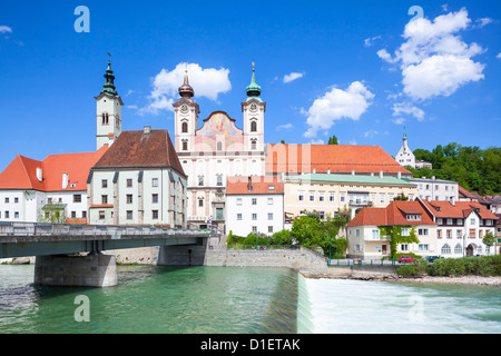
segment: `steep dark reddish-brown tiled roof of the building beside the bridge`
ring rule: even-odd
[[[171,167],[185,171],[166,129],[122,131],[94,168]]]

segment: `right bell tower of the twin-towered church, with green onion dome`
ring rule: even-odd
[[[261,87],[256,82],[254,72],[250,83],[246,88],[247,99],[242,102],[242,112],[244,113],[244,149],[247,151],[264,150],[264,113],[266,102],[261,99]]]

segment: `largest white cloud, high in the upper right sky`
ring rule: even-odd
[[[472,57],[484,52],[477,43],[465,43],[456,32],[471,23],[463,8],[436,17],[410,21],[404,29],[403,42],[392,57],[385,49],[377,56],[402,70],[404,93],[414,100],[435,96],[450,96],[460,87],[484,78],[484,65]]]

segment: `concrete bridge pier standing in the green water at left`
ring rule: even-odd
[[[98,288],[116,286],[116,258],[100,253],[89,253],[87,256],[37,256],[35,284]]]

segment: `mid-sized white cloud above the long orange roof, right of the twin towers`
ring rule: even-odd
[[[318,129],[328,129],[334,121],[343,118],[358,120],[371,105],[374,95],[360,81],[354,81],[346,90],[332,88],[323,97],[315,99],[312,107],[303,112],[307,116],[308,130],[305,137],[315,137]]]

